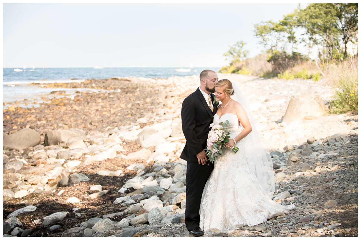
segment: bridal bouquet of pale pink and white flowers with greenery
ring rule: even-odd
[[[222,154],[222,149],[226,142],[229,142],[230,132],[227,131],[229,125],[229,121],[226,120],[225,123],[221,122],[219,124],[211,123],[209,127],[212,129],[208,133],[207,139],[207,148],[205,155],[208,156],[208,159],[211,163],[213,163],[217,157]],[[236,153],[239,150],[236,146],[232,148],[232,151]]]

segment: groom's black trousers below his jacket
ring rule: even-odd
[[[213,164],[208,161],[205,165],[187,162],[186,175],[186,216],[185,223],[188,231],[199,227],[199,208],[201,205],[204,186],[213,170]]]

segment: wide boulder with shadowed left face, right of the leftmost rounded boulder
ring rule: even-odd
[[[45,133],[45,146],[59,145],[66,147],[72,142],[86,139],[84,131],[78,128],[59,129]]]

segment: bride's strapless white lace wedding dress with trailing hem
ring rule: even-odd
[[[221,118],[214,115],[213,122],[230,122],[230,136],[242,131],[238,118],[226,113]],[[200,227],[203,231],[217,228],[222,232],[248,225],[258,225],[274,216],[288,214],[295,206],[283,206],[269,198],[256,175],[247,164],[244,139],[237,142],[238,152],[223,148],[214,162],[214,169],[204,190],[200,208]]]

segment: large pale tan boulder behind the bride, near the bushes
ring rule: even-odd
[[[317,96],[304,95],[292,97],[288,103],[286,113],[282,122],[290,124],[297,119],[303,119],[306,116],[319,117],[327,113],[327,107],[323,100]]]

